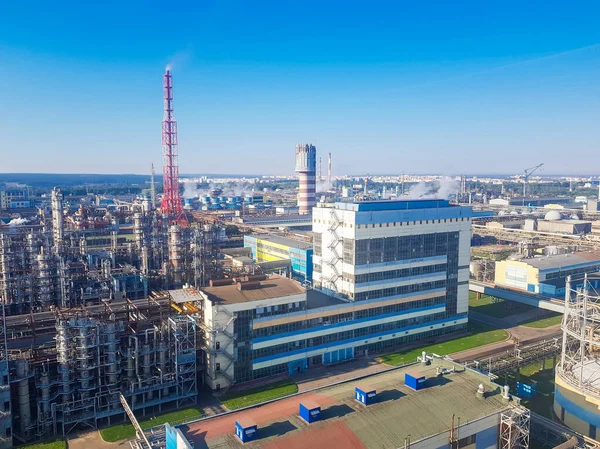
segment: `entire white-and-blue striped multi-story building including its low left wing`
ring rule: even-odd
[[[303,372],[466,329],[469,207],[443,200],[313,209],[314,284],[201,289],[207,383]]]

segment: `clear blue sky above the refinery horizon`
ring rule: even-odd
[[[598,1],[6,1],[0,172],[600,172]],[[324,163],[325,165],[325,163]],[[542,172],[542,174],[544,173]]]

